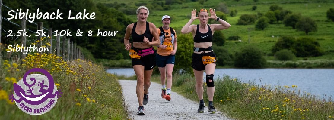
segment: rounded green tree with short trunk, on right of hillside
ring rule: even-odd
[[[299,31],[304,31],[306,35],[308,35],[309,32],[317,31],[317,24],[309,17],[302,17],[296,23],[296,28]]]

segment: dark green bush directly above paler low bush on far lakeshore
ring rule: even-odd
[[[281,37],[272,48],[272,52],[276,53],[277,51],[288,49],[292,50],[292,46],[295,43],[294,37],[283,36]]]

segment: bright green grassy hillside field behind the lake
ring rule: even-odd
[[[96,2],[101,3],[114,3],[114,0],[95,0]],[[153,0],[142,2],[142,1],[117,1],[117,3],[126,3],[127,5],[139,5],[146,4],[150,6]],[[154,23],[157,27],[162,26],[161,17],[163,15],[170,15],[172,20],[170,26],[175,28],[177,34],[180,34],[181,28],[189,21],[190,14],[192,9],[209,9],[215,7],[220,3],[219,0],[208,0],[204,2],[203,5],[199,4],[199,2],[185,2],[183,4],[172,4],[170,5],[170,10],[151,10],[150,15],[148,17],[148,21]],[[235,17],[227,16],[227,22],[231,24],[229,29],[223,30],[223,34],[226,38],[229,36],[240,36],[242,40],[239,41],[226,41],[224,47],[230,52],[234,53],[238,51],[240,48],[244,47],[248,44],[248,40],[251,44],[258,46],[269,58],[267,60],[271,60],[273,58],[273,54],[271,53],[271,48],[275,45],[275,42],[282,36],[293,36],[296,38],[299,37],[312,37],[315,38],[321,46],[321,49],[325,52],[323,56],[310,58],[310,59],[333,59],[333,51],[334,51],[334,22],[327,20],[326,11],[329,10],[332,6],[334,6],[334,1],[258,1],[254,2],[253,0],[241,0],[236,2],[234,0],[224,1],[224,3],[228,6],[228,10],[237,10],[238,13]],[[311,17],[316,21],[318,30],[317,32],[310,32],[309,35],[306,35],[305,32],[296,31],[292,27],[285,27],[282,21],[276,24],[270,24],[269,27],[265,28],[265,30],[256,30],[255,24],[252,25],[236,25],[237,20],[243,14],[265,14],[269,11],[271,5],[277,4],[282,7],[284,10],[290,10],[292,13],[299,13],[304,17]],[[257,9],[252,11],[252,6],[256,5]],[[333,8],[333,7],[332,7]],[[150,8],[149,8],[150,9]],[[134,11],[135,12],[135,11]],[[128,17],[135,22],[136,15],[128,15]],[[199,21],[194,21],[193,24],[198,24]],[[250,29],[248,31],[248,28]],[[213,41],[214,42],[214,41]],[[182,46],[179,46],[182,47]],[[219,51],[215,51],[219,52]],[[270,57],[271,56],[271,57]],[[303,58],[297,58],[303,59]]]

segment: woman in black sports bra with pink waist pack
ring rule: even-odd
[[[144,115],[143,105],[148,102],[148,89],[155,66],[155,54],[152,46],[160,45],[156,26],[146,21],[149,13],[147,7],[140,6],[137,9],[138,22],[128,25],[124,36],[125,49],[130,50],[132,67],[137,76],[136,93],[139,103],[137,115]],[[130,36],[133,39],[133,46],[129,41]]]

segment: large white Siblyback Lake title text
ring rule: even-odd
[[[42,12],[39,12],[39,8],[37,9],[36,13],[29,13],[29,9],[27,9],[26,12],[22,12],[22,9],[16,9],[17,12],[15,12],[14,10],[10,10],[8,11],[8,15],[9,16],[12,16],[10,18],[7,18],[8,20],[11,20],[13,18],[15,19],[32,19],[32,20],[28,20],[29,22],[34,22],[35,18],[36,19],[40,19],[40,18],[43,18],[43,19],[63,19],[61,17],[61,15],[63,14],[62,12],[59,13],[59,9],[57,9],[57,13],[55,12],[52,12],[52,13],[42,13]],[[13,15],[12,13],[15,13],[15,15]],[[28,15],[29,14],[29,15]],[[88,17],[89,16],[89,17]],[[83,13],[81,12],[78,12],[76,14],[75,17],[71,17],[71,10],[68,11],[68,19],[95,19],[95,12],[92,12],[92,13],[86,13],[86,9],[83,10]]]

